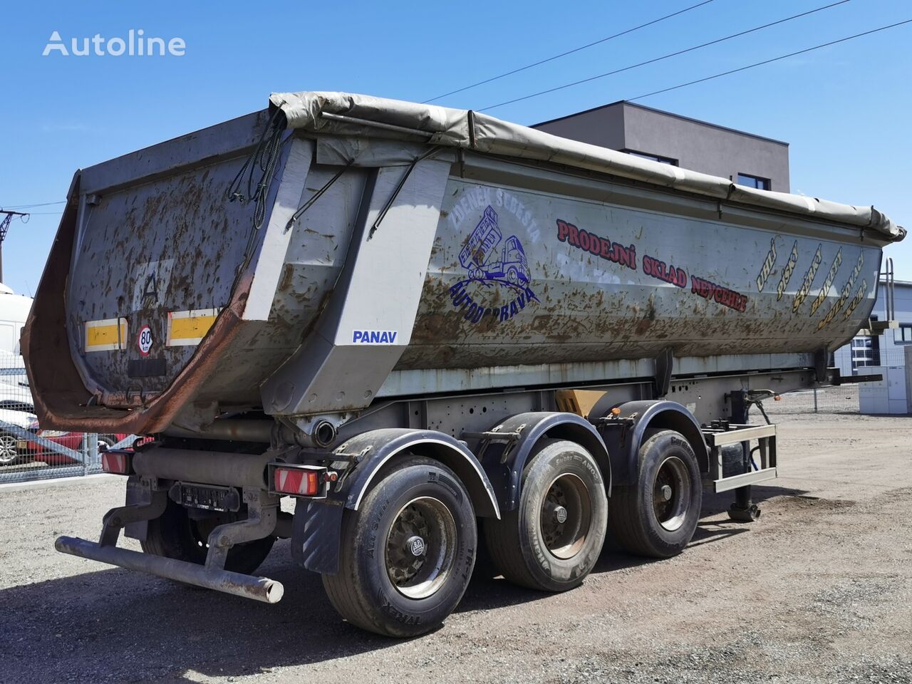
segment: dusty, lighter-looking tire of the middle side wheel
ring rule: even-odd
[[[582,484],[588,492],[585,506],[568,503],[567,520],[578,520],[582,539],[559,557],[549,550],[544,538],[543,510],[552,484],[563,476]],[[572,501],[572,499],[571,499]],[[578,501],[582,501],[582,496]],[[605,543],[608,502],[605,482],[596,460],[573,441],[540,440],[523,469],[519,505],[501,513],[501,519],[484,521],[484,537],[494,565],[513,584],[541,591],[560,592],[579,586],[596,565]],[[581,517],[575,518],[576,515]],[[582,531],[582,527],[586,531]],[[575,539],[576,536],[572,535]],[[555,552],[557,549],[554,550]]]

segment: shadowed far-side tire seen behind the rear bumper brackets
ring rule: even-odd
[[[246,511],[242,507],[238,513],[220,513],[215,520],[202,524],[192,520],[187,509],[169,499],[165,512],[149,521],[146,539],[140,541],[140,545],[147,554],[203,565],[209,549],[206,538],[212,528],[216,524],[233,523],[244,520],[245,517]],[[228,552],[225,570],[252,575],[263,564],[273,544],[275,536],[270,534],[263,539],[234,545]]]

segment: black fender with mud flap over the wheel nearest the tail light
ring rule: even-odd
[[[407,452],[449,467],[469,492],[475,514],[500,518],[492,484],[464,443],[436,430],[368,430],[334,451],[340,460],[343,454],[358,459],[355,467],[343,475],[341,487],[334,486],[325,500],[312,500],[295,509],[292,555],[300,565],[318,573],[337,572],[343,512],[357,511],[370,483],[382,477],[384,466]]]

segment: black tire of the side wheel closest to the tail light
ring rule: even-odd
[[[430,497],[455,523],[449,575],[430,596],[400,593],[387,569],[393,524],[409,502]],[[469,493],[438,461],[411,457],[394,465],[372,487],[358,511],[342,521],[342,548],[335,575],[322,575],[330,603],[352,625],[387,637],[417,637],[439,627],[459,604],[475,565],[478,534]]]

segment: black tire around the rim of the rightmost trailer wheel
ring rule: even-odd
[[[686,513],[674,530],[662,526],[654,507],[654,487],[659,467],[669,457],[677,457],[689,476],[689,501],[682,506]],[[673,495],[678,495],[674,492]],[[703,488],[700,466],[693,447],[675,430],[647,433],[639,448],[639,476],[635,485],[616,486],[611,493],[608,532],[612,539],[631,554],[668,558],[679,554],[690,542],[700,519]]]

